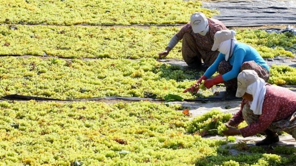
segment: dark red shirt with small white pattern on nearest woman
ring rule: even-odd
[[[244,120],[242,110],[247,102],[247,100],[243,99],[240,111],[231,119],[235,124],[239,124]],[[254,136],[265,131],[272,122],[287,119],[294,112],[296,112],[296,93],[287,88],[267,83],[262,114],[259,115],[258,122],[240,129],[240,133],[243,137]]]

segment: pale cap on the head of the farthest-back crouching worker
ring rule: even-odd
[[[194,33],[204,31],[208,26],[208,19],[201,12],[195,12],[190,17],[190,25]]]

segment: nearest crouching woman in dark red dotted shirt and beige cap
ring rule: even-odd
[[[296,93],[265,83],[254,70],[243,70],[237,77],[236,97],[243,97],[241,109],[226,124],[226,136],[250,137],[264,132],[257,146],[279,141],[277,132],[285,131],[296,139]],[[236,129],[246,121],[248,126]],[[231,127],[233,126],[233,127]]]

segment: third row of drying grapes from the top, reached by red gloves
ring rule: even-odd
[[[0,58],[0,95],[20,94],[55,99],[106,96],[164,99],[168,94],[185,99],[207,97],[214,89],[183,93],[203,73],[163,64],[155,59]],[[295,85],[296,69],[271,67],[269,83]]]

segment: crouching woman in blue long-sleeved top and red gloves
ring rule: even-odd
[[[224,83],[227,92],[235,92],[237,88],[237,75],[240,71],[250,69],[257,72],[260,78],[267,82],[269,67],[259,52],[253,47],[236,41],[234,30],[221,30],[215,33],[212,51],[218,50],[215,62],[207,69],[205,74],[184,92],[197,92],[199,84],[205,80],[206,88]],[[218,71],[220,75],[210,79]]]

